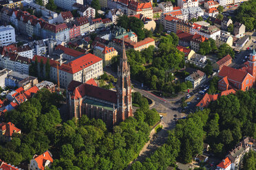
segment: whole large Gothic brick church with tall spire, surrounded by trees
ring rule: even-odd
[[[107,127],[118,125],[132,116],[130,67],[125,53],[125,42],[122,42],[122,57],[118,70],[116,91],[96,86],[94,80],[85,82],[85,71],[82,82],[72,80],[67,86],[67,106],[70,117],[81,118],[83,114],[90,119],[102,119]]]

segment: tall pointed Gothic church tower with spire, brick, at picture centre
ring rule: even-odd
[[[127,62],[125,53],[125,41],[122,40],[122,57],[118,66],[118,82],[117,82],[117,117],[116,121],[120,123],[128,117],[132,116],[132,101],[131,101],[131,78],[130,66]]]

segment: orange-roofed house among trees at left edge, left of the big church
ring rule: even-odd
[[[0,123],[0,141],[7,143],[12,140],[12,134],[21,134],[21,130],[15,127],[12,122]]]

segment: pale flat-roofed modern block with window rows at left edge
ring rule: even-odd
[[[0,27],[0,47],[16,42],[15,29],[11,25]]]

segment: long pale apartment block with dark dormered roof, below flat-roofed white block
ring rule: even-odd
[[[9,53],[3,56],[3,66],[6,69],[28,75],[30,59],[19,56],[17,53]]]

